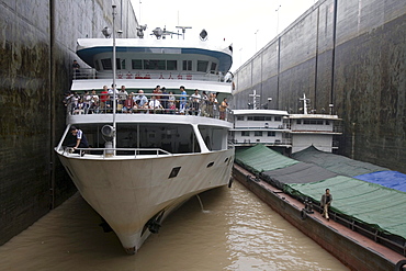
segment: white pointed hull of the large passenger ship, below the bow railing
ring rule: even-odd
[[[160,224],[191,196],[228,183],[234,149],[154,158],[58,155],[83,199],[124,249],[135,252],[149,236],[151,221]]]

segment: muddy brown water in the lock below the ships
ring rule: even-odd
[[[0,270],[349,270],[238,182],[170,215],[135,256],[76,194],[0,247]]]

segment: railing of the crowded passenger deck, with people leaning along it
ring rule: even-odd
[[[232,122],[232,111],[214,98],[169,93],[129,94],[116,92],[116,114],[196,115]],[[109,93],[72,93],[65,98],[68,115],[112,114],[113,95]]]

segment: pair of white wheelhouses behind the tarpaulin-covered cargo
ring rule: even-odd
[[[305,94],[303,114],[290,114],[282,110],[258,109],[253,91],[250,94],[251,109],[233,110],[234,127],[230,129],[232,142],[236,147],[249,147],[262,144],[281,149],[284,154],[297,153],[308,146],[332,153],[338,149],[335,136],[341,135],[340,118],[337,115],[308,113],[308,99]],[[331,105],[332,108],[332,105]]]

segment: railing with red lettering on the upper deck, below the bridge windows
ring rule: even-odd
[[[117,70],[115,79],[148,80],[148,79],[171,79],[171,80],[201,80],[224,82],[225,76],[222,72],[179,72],[179,71],[122,71]],[[112,71],[98,71],[93,68],[80,68],[75,70],[74,80],[112,79]]]

